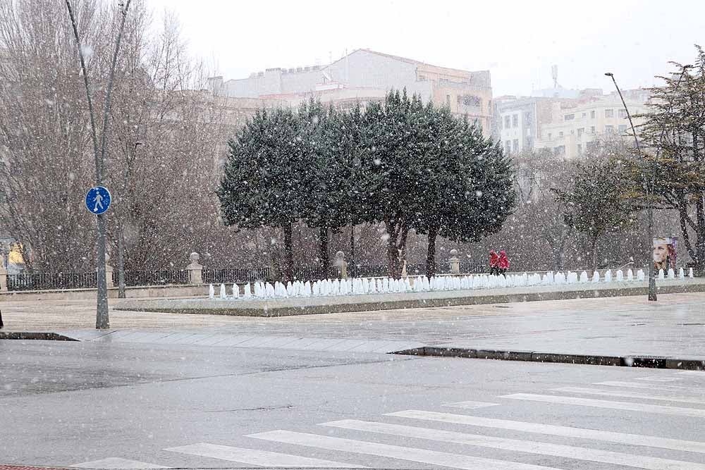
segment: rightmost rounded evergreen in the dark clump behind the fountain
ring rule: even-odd
[[[475,242],[498,232],[516,205],[513,166],[482,129],[429,104],[424,126],[427,167],[417,233],[428,235],[427,276],[436,274],[436,237]]]

